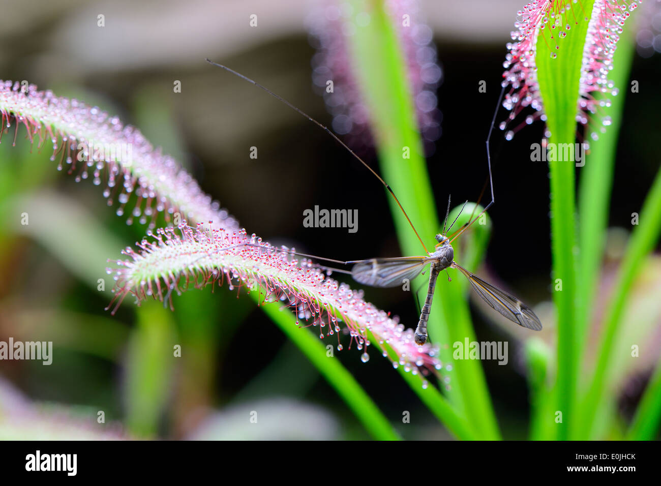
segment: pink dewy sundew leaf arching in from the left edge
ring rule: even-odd
[[[119,202],[116,212],[126,214],[127,223],[155,227],[163,214],[166,222],[213,221],[217,227],[238,229],[175,159],[97,106],[38,91],[35,85],[0,81],[0,127],[0,142],[15,139],[22,127],[38,149],[52,147],[58,170],[75,174],[76,181],[103,184],[108,204]],[[132,194],[136,200],[129,206]]]

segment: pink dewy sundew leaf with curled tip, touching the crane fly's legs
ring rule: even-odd
[[[264,304],[280,301],[292,307],[297,313],[295,323],[309,321],[319,326],[322,338],[334,337],[344,323],[350,343],[364,350],[364,360],[369,359],[369,344],[383,350],[387,343],[395,349],[394,359],[409,364],[414,372],[426,374],[442,367],[436,358],[438,350],[429,344],[416,345],[412,329],[405,329],[362,300],[360,292],[327,277],[317,264],[297,259],[288,249],[274,248],[254,235],[247,239],[243,231],[229,233],[205,225],[194,229],[185,223],[178,229],[150,231],[148,236],[137,244],[139,251],[125,249],[122,253],[128,259],[108,268],[116,282],[114,309],[129,294],[138,302],[156,298],[171,303],[173,294],[189,288],[227,284],[230,290],[257,292]],[[367,331],[377,337],[375,343],[367,338]],[[338,350],[342,348],[338,337]]]

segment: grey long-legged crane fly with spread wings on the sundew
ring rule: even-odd
[[[418,240],[420,241],[420,244],[424,249],[425,255],[416,256],[416,257],[369,259],[369,260],[356,260],[356,261],[343,262],[339,260],[317,257],[315,255],[307,255],[305,253],[296,253],[294,251],[288,251],[288,250],[283,250],[283,251],[286,251],[287,253],[291,253],[292,255],[299,255],[301,257],[327,261],[335,264],[353,265],[350,271],[346,271],[346,270],[340,270],[340,271],[351,274],[352,278],[354,278],[354,280],[356,280],[356,282],[359,282],[360,284],[369,285],[373,287],[399,286],[402,284],[403,280],[408,279],[410,281],[419,274],[421,274],[424,268],[427,266],[427,264],[429,264],[430,272],[429,272],[429,285],[427,290],[427,297],[420,311],[420,319],[418,320],[418,326],[416,327],[415,335],[414,335],[415,342],[420,346],[426,343],[428,339],[427,323],[432,307],[432,299],[434,298],[434,289],[436,288],[436,280],[438,279],[439,274],[443,270],[446,270],[447,268],[456,268],[457,270],[459,270],[468,279],[468,281],[471,282],[471,286],[473,287],[475,292],[477,292],[477,295],[479,295],[486,302],[486,304],[490,305],[490,307],[492,307],[494,310],[504,315],[504,317],[510,319],[510,321],[522,327],[526,327],[527,329],[533,329],[534,331],[541,330],[542,328],[541,322],[539,321],[537,315],[535,315],[535,313],[530,309],[530,307],[525,305],[518,298],[512,296],[508,292],[505,292],[504,290],[501,290],[500,288],[486,282],[485,280],[482,280],[481,278],[479,278],[479,276],[469,272],[469,270],[466,270],[465,268],[463,268],[463,266],[459,265],[457,262],[454,261],[454,249],[452,247],[452,242],[457,237],[459,237],[461,233],[466,231],[473,223],[479,220],[479,218],[483,214],[485,214],[486,210],[488,210],[488,208],[490,208],[492,204],[494,204],[494,190],[493,190],[493,179],[491,175],[491,155],[489,149],[489,142],[491,138],[491,132],[494,128],[496,114],[498,112],[498,104],[500,104],[500,101],[498,102],[498,104],[496,104],[496,110],[494,111],[494,116],[491,121],[489,134],[486,138],[486,155],[487,155],[487,163],[489,169],[488,180],[490,182],[491,201],[485,206],[482,212],[477,217],[475,217],[475,219],[473,219],[473,216],[475,214],[475,210],[473,210],[473,214],[471,214],[471,218],[469,218],[469,221],[467,223],[464,223],[459,229],[457,229],[457,231],[455,231],[455,233],[451,234],[450,236],[447,236],[447,232],[449,232],[451,227],[457,221],[457,218],[459,218],[459,215],[457,215],[457,218],[455,218],[454,222],[452,222],[449,228],[447,228],[446,230],[447,216],[449,215],[449,200],[448,200],[446,220],[444,223],[443,232],[438,233],[436,235],[436,241],[438,243],[434,247],[434,251],[430,252],[427,250],[426,246],[424,245],[424,242],[422,241],[422,238],[418,234],[418,231],[416,231],[410,218],[408,218],[407,212],[399,202],[397,196],[395,196],[395,192],[393,192],[393,189],[389,186],[389,184],[387,184],[387,182],[385,182],[381,178],[381,176],[379,176],[371,167],[369,167],[369,165],[363,159],[361,159],[352,149],[350,149],[350,147],[348,147],[333,132],[331,132],[329,128],[327,128],[320,122],[317,122],[317,120],[311,118],[311,116],[309,116],[302,110],[299,110],[299,108],[297,108],[296,106],[293,106],[293,104],[288,102],[286,99],[280,97],[279,95],[276,95],[276,93],[273,93],[272,91],[270,91],[270,89],[260,85],[259,83],[256,83],[256,81],[253,81],[253,79],[250,79],[249,77],[246,77],[243,74],[238,73],[237,71],[234,71],[233,69],[230,69],[225,65],[215,63],[208,59],[206,61],[208,61],[212,65],[221,67],[222,69],[225,69],[225,71],[229,71],[233,75],[236,75],[241,79],[244,79],[245,81],[248,81],[249,83],[255,85],[256,87],[266,91],[266,93],[278,99],[279,101],[283,102],[284,104],[286,104],[287,106],[289,106],[290,108],[301,114],[302,116],[305,116],[305,118],[307,118],[308,120],[310,120],[311,122],[322,128],[323,130],[325,130],[325,132],[327,132],[328,134],[330,134],[331,137],[334,138],[334,140],[336,140],[336,142],[340,143],[340,145],[342,145],[342,147],[348,150],[354,156],[354,158],[356,158],[358,161],[360,161],[360,163],[362,163],[365,167],[367,167],[367,169],[373,175],[375,175],[377,179],[379,179],[381,184],[385,186],[385,188],[394,198],[395,202],[397,202],[397,206],[399,206],[399,208],[403,212],[411,229],[418,237]],[[500,95],[501,98],[502,98],[502,93],[504,93],[504,88],[503,91],[501,91],[501,95]],[[465,205],[466,203],[464,203],[463,208],[465,208]],[[463,208],[461,208],[462,212],[463,212]],[[461,214],[461,212],[459,212],[459,214]],[[254,246],[252,243],[242,243],[241,245]]]

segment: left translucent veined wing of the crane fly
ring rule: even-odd
[[[372,287],[397,287],[403,280],[413,280],[431,260],[429,257],[402,257],[359,260],[351,269],[351,276],[360,284]]]

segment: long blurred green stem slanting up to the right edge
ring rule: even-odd
[[[620,266],[615,286],[613,286],[612,298],[605,312],[594,376],[582,405],[586,438],[592,438],[594,435],[594,417],[598,415],[598,411],[602,409],[605,401],[605,377],[608,376],[610,370],[610,356],[620,329],[621,317],[631,286],[642,268],[644,257],[654,249],[661,232],[661,171],[656,175],[654,184],[645,198],[639,222],[631,235],[627,253]]]

